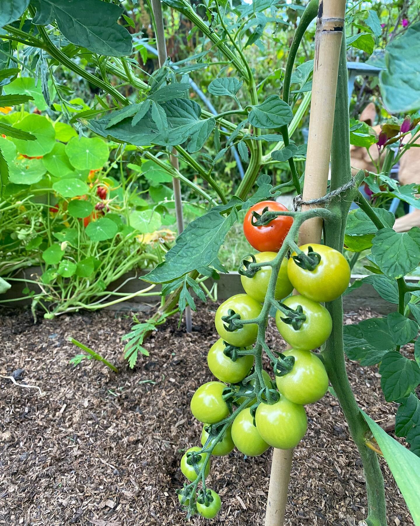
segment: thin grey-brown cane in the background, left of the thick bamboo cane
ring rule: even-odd
[[[167,58],[166,41],[165,41],[165,28],[163,25],[162,15],[162,4],[161,0],[152,0],[152,10],[155,19],[156,26],[156,44],[158,48],[159,66],[162,67]],[[172,153],[175,153],[175,149]],[[179,170],[180,166],[178,158],[175,155],[171,155],[171,165]],[[175,216],[176,226],[178,229],[178,236],[184,230],[184,217],[182,213],[182,196],[181,196],[181,183],[179,179],[172,179],[172,187],[174,189],[174,200],[175,200]],[[192,330],[192,319],[191,319],[191,308],[187,305],[185,308],[185,324],[187,332]]]

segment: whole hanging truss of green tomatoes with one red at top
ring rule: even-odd
[[[221,507],[219,495],[205,488],[212,455],[224,456],[236,447],[254,457],[270,446],[294,448],[303,438],[307,430],[303,406],[320,400],[329,383],[322,360],[311,352],[323,345],[332,330],[330,313],[322,304],[341,296],[350,281],[347,260],[328,246],[303,245],[298,253],[283,258],[272,298],[277,310],[275,314],[271,310],[271,315],[289,350],[270,351],[258,331],[264,325],[265,335],[267,319],[261,322],[260,314],[272,267],[259,264],[276,258],[292,218],[279,216],[265,226],[251,224],[252,211],[262,211],[267,204],[271,210],[284,209],[265,201],[245,217],[245,236],[262,251],[251,256],[254,272],[241,275],[246,294],[230,297],[216,311],[220,338],[208,351],[207,364],[217,381],[199,387],[191,400],[194,417],[203,423],[203,447],[190,448],[182,457],[181,470],[190,484],[178,490],[178,497],[190,514],[196,511],[205,518],[215,517]],[[312,262],[309,268],[308,261]],[[249,263],[249,259],[243,261],[246,267]],[[298,294],[291,295],[293,289]],[[262,349],[277,357],[271,361],[274,381],[262,369]],[[198,481],[203,489],[197,496]]]

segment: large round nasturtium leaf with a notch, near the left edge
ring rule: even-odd
[[[56,142],[53,125],[43,115],[31,114],[13,125],[14,128],[35,135],[37,140],[13,139],[21,154],[38,157],[49,154]]]

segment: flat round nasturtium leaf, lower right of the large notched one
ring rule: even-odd
[[[78,170],[99,170],[108,160],[109,149],[99,137],[74,137],[66,145],[66,154]]]

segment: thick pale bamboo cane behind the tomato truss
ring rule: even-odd
[[[345,0],[320,0],[303,201],[327,191],[344,14]],[[302,206],[302,210],[309,208]],[[299,230],[299,245],[319,243],[321,235],[322,220],[309,219]],[[284,524],[292,457],[293,449],[273,450],[265,526]]]

